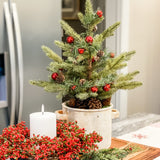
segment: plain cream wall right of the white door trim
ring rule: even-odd
[[[128,114],[160,114],[160,1],[130,0],[130,50],[137,54],[129,62],[129,71],[144,84],[128,92]]]

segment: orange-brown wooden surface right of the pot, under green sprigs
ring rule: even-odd
[[[153,160],[160,156],[160,148],[154,148],[150,146],[144,146],[137,143],[132,143],[129,141],[112,138],[111,147],[113,148],[125,148],[130,146],[140,147],[140,151],[128,155],[124,160]]]

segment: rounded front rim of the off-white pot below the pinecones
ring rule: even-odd
[[[101,109],[81,109],[81,108],[72,108],[72,107],[68,107],[66,105],[66,102],[62,103],[62,106],[68,110],[74,110],[74,111],[78,111],[78,112],[101,112],[101,111],[106,111],[106,110],[110,110],[113,108],[113,104],[111,103],[111,105],[109,107],[106,108],[101,108]]]

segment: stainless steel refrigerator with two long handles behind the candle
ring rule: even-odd
[[[59,55],[54,40],[61,40],[60,0],[0,0],[0,130],[18,120],[29,122],[29,114],[61,108],[56,94],[31,86],[29,80],[48,79],[47,45]],[[22,114],[21,114],[22,113]]]

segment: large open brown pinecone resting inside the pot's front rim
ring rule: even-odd
[[[89,109],[100,109],[102,108],[102,103],[97,98],[90,98],[90,100],[88,101],[88,106]]]

